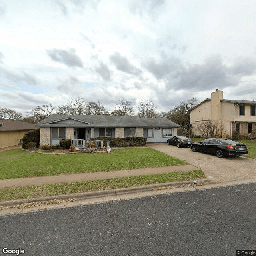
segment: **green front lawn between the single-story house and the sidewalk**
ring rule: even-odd
[[[184,164],[187,162],[152,148],[65,155],[38,154],[17,149],[0,152],[0,179]]]

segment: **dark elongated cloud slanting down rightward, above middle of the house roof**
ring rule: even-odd
[[[122,72],[131,74],[134,76],[139,76],[142,74],[142,70],[132,65],[129,62],[129,60],[126,57],[121,56],[119,52],[115,52],[109,58],[112,61],[112,63],[116,66],[116,68]]]

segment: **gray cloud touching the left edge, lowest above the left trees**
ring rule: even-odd
[[[5,68],[0,68],[0,72],[3,73],[6,76],[6,78],[12,82],[25,82],[26,84],[30,85],[39,84],[36,76],[30,75],[23,70],[19,74],[17,74]]]

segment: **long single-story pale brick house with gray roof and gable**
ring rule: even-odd
[[[136,116],[51,115],[38,122],[40,146],[58,144],[60,140],[90,140],[97,137],[147,138],[147,142],[167,142],[177,135],[175,124],[167,118],[139,118]]]

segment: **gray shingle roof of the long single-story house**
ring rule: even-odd
[[[59,121],[67,119],[83,122],[77,124],[67,123],[63,124]],[[58,122],[58,123],[56,123]],[[83,115],[51,115],[48,118],[38,122],[36,126],[41,127],[160,127],[160,128],[174,128],[180,125],[172,122],[167,118],[139,118],[136,116],[83,116]]]

